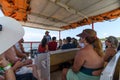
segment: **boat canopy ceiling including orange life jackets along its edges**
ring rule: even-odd
[[[0,0],[23,26],[67,30],[120,17],[120,0]]]

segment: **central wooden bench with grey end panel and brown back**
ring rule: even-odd
[[[73,60],[79,48],[56,50],[37,54],[34,62],[38,67],[41,79],[49,78],[50,72],[58,69],[59,64]]]

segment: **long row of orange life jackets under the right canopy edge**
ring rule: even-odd
[[[84,25],[90,25],[92,23],[102,22],[104,20],[110,20],[110,19],[114,19],[114,18],[118,18],[118,17],[120,17],[120,8],[115,9],[110,12],[106,12],[106,13],[97,15],[97,16],[91,16],[88,18],[84,18],[81,21],[71,23],[70,25],[67,25],[67,26],[62,26],[61,28],[72,29],[72,28],[76,28],[78,26],[80,27],[80,26],[84,26]]]

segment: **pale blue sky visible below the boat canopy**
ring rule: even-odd
[[[0,11],[0,16],[3,16],[1,11]],[[81,33],[82,30],[86,28],[91,29],[92,28],[91,26],[92,25],[86,25],[86,26],[78,27],[76,29],[61,31],[61,39],[66,38],[68,36],[79,39],[78,37],[76,37],[76,35]],[[43,29],[35,29],[28,27],[24,27],[24,30],[25,30],[25,35],[24,35],[25,41],[41,41],[46,31]],[[94,23],[94,30],[97,32],[98,38],[105,38],[111,35],[115,37],[120,37],[120,18],[114,19],[112,21]],[[48,31],[50,32],[49,34],[51,35],[51,37],[56,36],[57,40],[59,39],[58,31],[50,31],[50,30]]]

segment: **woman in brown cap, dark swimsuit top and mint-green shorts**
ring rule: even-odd
[[[72,68],[63,69],[62,80],[99,80],[104,66],[101,41],[92,29],[85,29],[77,36],[85,47],[77,52]]]

